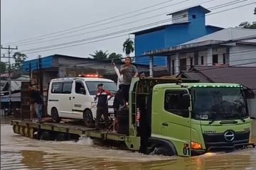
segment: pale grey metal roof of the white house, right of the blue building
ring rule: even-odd
[[[250,36],[256,36],[255,29],[226,28],[223,30],[219,30],[215,33],[205,35],[201,38],[196,38],[195,40],[185,42],[181,45],[188,45],[188,44],[204,42],[204,41],[208,41],[208,40],[217,40],[217,41],[240,40],[242,38],[248,38]],[[250,42],[250,40],[247,40],[247,42],[248,41]]]

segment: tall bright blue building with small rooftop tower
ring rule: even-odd
[[[135,55],[137,64],[149,64],[149,57],[142,56],[144,52],[164,47],[174,47],[184,42],[214,33],[223,28],[206,26],[206,13],[210,11],[203,6],[194,6],[181,11],[169,13],[172,23],[147,30],[141,30],[135,35]],[[166,66],[167,57],[157,57],[154,65]]]

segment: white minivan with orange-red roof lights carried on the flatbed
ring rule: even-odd
[[[60,118],[71,118],[81,119],[86,126],[92,126],[96,118],[97,84],[103,84],[103,88],[113,94],[117,91],[114,81],[97,75],[52,79],[48,89],[48,115],[57,123]],[[114,114],[113,101],[111,98],[108,103],[110,115]]]

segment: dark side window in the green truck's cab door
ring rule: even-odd
[[[182,108],[182,96],[187,94],[186,91],[166,91],[164,96],[164,109],[169,113],[175,115],[185,116],[184,110]]]

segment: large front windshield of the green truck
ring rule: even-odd
[[[245,96],[239,87],[206,87],[191,89],[192,116],[197,120],[247,118]]]

